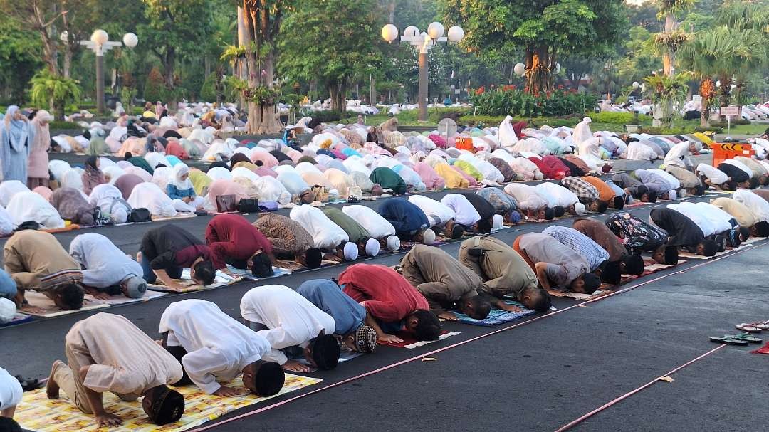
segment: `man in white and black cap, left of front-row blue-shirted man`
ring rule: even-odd
[[[338,364],[334,318],[298,292],[283,285],[251,288],[240,308],[251,330],[270,343],[272,351],[265,358],[277,361],[286,371],[309,372],[296,360],[302,357],[323,371]]]

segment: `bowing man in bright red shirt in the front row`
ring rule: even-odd
[[[441,321],[429,311],[424,296],[391,268],[375,264],[355,264],[339,275],[342,291],[366,308],[365,324],[372,327],[379,341],[402,342],[395,333],[407,331],[419,341],[436,341]]]

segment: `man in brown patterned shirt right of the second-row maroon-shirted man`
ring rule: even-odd
[[[321,250],[301,225],[281,214],[266,213],[253,224],[272,244],[272,253],[281,260],[293,260],[307,268],[321,267]]]

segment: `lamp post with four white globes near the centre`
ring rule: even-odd
[[[444,27],[440,22],[433,22],[428,31],[419,32],[413,25],[408,26],[401,36],[401,42],[408,42],[419,50],[419,121],[428,119],[428,51],[438,42],[460,42],[464,38],[464,30],[458,25],[448,29],[448,38],[444,37]],[[398,28],[392,24],[385,25],[381,32],[387,42],[398,38]]]

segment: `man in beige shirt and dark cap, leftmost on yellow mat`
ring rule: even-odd
[[[55,361],[48,377],[48,399],[64,390],[100,427],[123,420],[105,410],[105,391],[122,400],[144,397],[141,407],[159,426],[174,423],[185,411],[185,398],[166,387],[181,379],[181,365],[125,317],[101,313],[78,321],[67,334],[65,354],[68,365]]]

